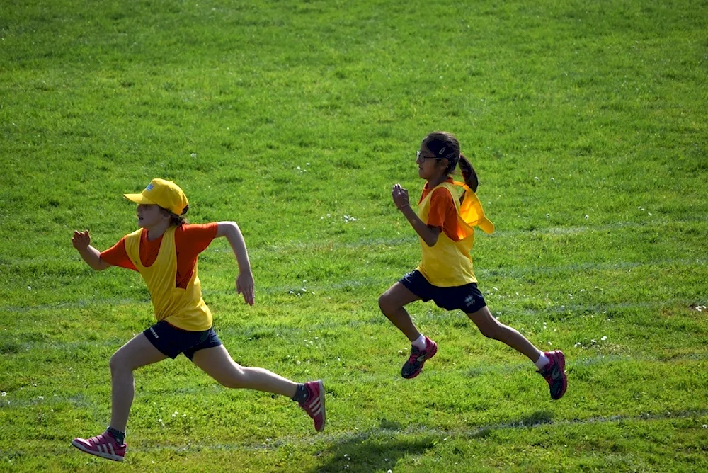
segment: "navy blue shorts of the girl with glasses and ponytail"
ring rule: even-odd
[[[477,283],[438,287],[428,283],[426,277],[417,269],[406,274],[399,283],[420,297],[423,302],[432,299],[435,305],[445,310],[460,309],[465,314],[472,314],[486,306],[482,293],[477,289]]]

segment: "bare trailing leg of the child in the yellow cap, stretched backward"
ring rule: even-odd
[[[192,361],[225,387],[256,389],[290,398],[297,390],[297,383],[273,372],[239,365],[223,345],[196,351]]]

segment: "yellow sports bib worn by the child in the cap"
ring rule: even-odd
[[[202,299],[196,264],[187,287],[176,287],[175,229],[169,227],[162,236],[160,251],[151,266],[142,266],[140,261],[142,229],[125,236],[125,252],[147,284],[157,321],[165,320],[183,330],[208,330],[212,326],[212,312]]]

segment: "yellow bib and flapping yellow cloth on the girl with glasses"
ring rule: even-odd
[[[447,189],[452,195],[452,201],[455,203],[459,241],[452,241],[445,232],[440,232],[438,241],[433,246],[428,246],[420,238],[423,258],[417,269],[426,277],[430,284],[438,287],[476,283],[477,278],[474,276],[474,270],[472,269],[472,256],[469,255],[474,244],[473,227],[479,227],[485,233],[490,234],[494,231],[494,224],[484,216],[481,203],[475,193],[472,192],[472,189],[460,182],[443,182],[435,186],[433,190],[430,190],[430,193],[426,195],[421,205],[418,206],[418,217],[423,222],[428,222],[430,198],[433,197],[435,189],[439,187]],[[457,190],[459,188],[466,191],[462,205],[459,203],[460,193]]]

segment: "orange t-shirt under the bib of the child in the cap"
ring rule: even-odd
[[[185,289],[189,284],[197,263],[199,253],[207,249],[207,246],[217,236],[217,222],[199,224],[183,224],[175,230],[175,251],[177,253],[177,277],[175,287]],[[149,241],[147,230],[142,229],[140,233],[140,262],[142,266],[152,266],[160,251],[162,236]],[[101,259],[113,266],[132,269],[137,271],[135,265],[130,261],[128,253],[125,251],[125,236],[118,243],[109,249],[101,252]]]

